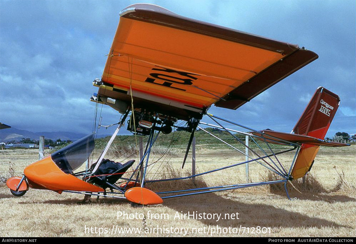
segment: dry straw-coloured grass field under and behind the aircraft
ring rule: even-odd
[[[113,156],[115,152],[111,154]],[[168,157],[164,157],[161,159],[163,164],[156,163],[148,172],[148,177],[189,174],[191,164],[188,162],[183,173],[179,173],[182,155],[183,151],[178,150],[177,154],[170,156],[169,167],[164,166],[164,160],[168,161]],[[300,181],[293,181],[297,190],[288,183],[290,196],[294,198],[292,201],[288,200],[282,186],[273,185],[165,199],[161,205],[135,208],[126,200],[109,198],[100,198],[98,201],[92,198],[91,204],[81,205],[78,202],[83,199],[83,195],[57,194],[48,190],[30,189],[22,197],[12,196],[3,182],[12,175],[20,176],[23,168],[38,159],[38,154],[24,149],[2,150],[0,236],[355,237],[355,156],[356,145],[345,148],[321,148],[307,182],[302,185]],[[158,154],[153,154],[152,160],[155,160],[155,157],[158,157]],[[292,154],[282,156],[281,161],[287,164],[290,157]],[[229,165],[239,160],[244,161],[244,156],[236,156],[231,150],[214,149],[203,144],[197,146],[196,158],[197,172]],[[256,163],[250,164],[250,172],[250,179],[255,182],[272,178]],[[245,181],[245,167],[242,165],[199,177],[195,184],[210,186]],[[148,187],[182,189],[193,184],[189,180]],[[117,217],[118,211],[132,214],[131,217],[137,214],[138,219],[127,220],[122,216]],[[188,212],[201,216],[204,213],[215,214],[215,219],[174,218],[177,214],[180,216]],[[148,217],[146,226],[155,233],[144,233],[144,223],[140,219],[140,214]],[[216,219],[217,216],[220,216],[219,220]],[[226,219],[228,216],[230,219]],[[157,227],[159,228],[153,229]],[[121,228],[141,228],[141,233],[135,233],[133,229],[131,229],[133,233],[118,233]]]

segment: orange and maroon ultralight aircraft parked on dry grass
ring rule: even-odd
[[[258,131],[208,110],[212,105],[236,110],[317,58],[314,52],[298,45],[182,17],[156,5],[128,6],[120,12],[102,77],[93,82],[99,90],[91,101],[109,105],[121,114],[99,159],[87,170],[75,172],[93,152],[93,133],[27,166],[23,176],[8,179],[7,186],[15,196],[25,194],[31,187],[59,194],[79,193],[153,205],[161,204],[166,198],[279,183],[284,184],[289,198],[287,182],[310,171],[319,146],[349,145],[324,140],[339,107],[339,96],[319,87],[291,133]],[[214,124],[202,122],[203,116]],[[178,121],[185,121],[185,126],[177,126]],[[121,164],[104,159],[126,122],[129,131],[148,137],[141,160]],[[226,123],[245,131],[226,128]],[[210,133],[204,126],[226,131],[236,143],[248,148],[251,155]],[[177,128],[190,133],[182,168],[197,129],[248,160],[187,177],[146,178],[147,168],[151,166],[150,153],[159,135]],[[249,135],[261,150],[246,145],[236,133]],[[266,149],[261,144],[266,145]],[[270,144],[284,145],[288,149],[275,152]],[[293,160],[286,167],[278,155],[292,151]],[[189,179],[249,162],[260,164],[280,179],[163,192],[145,187],[147,183]]]

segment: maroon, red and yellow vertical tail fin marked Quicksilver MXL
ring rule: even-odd
[[[319,87],[292,132],[324,139],[339,104],[338,95]],[[302,144],[291,173],[293,179],[301,178],[310,171],[318,151],[319,146]]]

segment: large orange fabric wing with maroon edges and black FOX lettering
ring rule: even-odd
[[[237,109],[318,57],[156,5],[134,4],[120,16],[102,76],[109,91],[99,95],[131,103],[132,90],[139,106],[164,105],[183,119],[212,104]]]

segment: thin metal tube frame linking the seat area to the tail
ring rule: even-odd
[[[190,178],[194,178],[194,177],[197,177],[197,176],[201,176],[203,174],[208,174],[208,173],[213,173],[213,172],[216,172],[216,171],[220,171],[220,170],[224,170],[224,169],[227,169],[227,168],[231,168],[231,167],[235,167],[237,165],[242,165],[242,164],[245,164],[245,163],[249,163],[249,162],[257,162],[259,163],[260,165],[264,166],[265,168],[267,168],[268,170],[276,173],[278,176],[282,177],[283,179],[281,180],[275,180],[275,181],[266,181],[266,182],[253,182],[253,183],[244,183],[244,184],[234,184],[234,185],[220,185],[220,186],[214,186],[214,187],[203,187],[203,188],[192,188],[192,189],[183,189],[183,190],[171,190],[171,191],[166,191],[166,192],[158,192],[156,194],[175,194],[175,193],[183,193],[183,192],[193,192],[193,193],[184,193],[184,194],[178,194],[178,195],[166,195],[166,196],[162,196],[162,199],[166,199],[166,198],[175,198],[175,197],[180,197],[180,196],[189,196],[189,195],[197,195],[197,194],[203,194],[203,193],[211,193],[211,192],[219,192],[219,191],[223,191],[223,190],[234,190],[234,189],[239,189],[239,188],[245,188],[245,187],[252,187],[252,186],[258,186],[258,185],[267,185],[267,184],[276,184],[276,183],[284,183],[284,188],[286,190],[286,194],[287,194],[287,197],[288,199],[290,199],[290,196],[288,194],[288,190],[287,190],[287,182],[288,180],[291,179],[290,177],[290,174],[291,174],[291,171],[292,171],[292,168],[294,166],[294,163],[295,163],[295,160],[297,158],[297,155],[298,155],[298,152],[299,152],[299,149],[300,149],[300,146],[298,144],[295,144],[295,143],[291,143],[291,142],[288,142],[288,141],[283,141],[279,138],[275,138],[277,139],[275,142],[278,142],[282,145],[286,145],[286,146],[293,146],[293,148],[290,148],[290,149],[285,149],[285,150],[282,150],[280,152],[277,152],[275,153],[272,148],[269,146],[269,143],[267,142],[266,138],[264,137],[263,133],[262,132],[259,132],[259,131],[256,131],[252,128],[249,128],[249,127],[245,127],[245,126],[242,126],[241,124],[238,124],[238,123],[235,123],[235,122],[232,122],[232,121],[229,121],[229,120],[226,120],[224,118],[220,118],[218,116],[215,116],[215,115],[212,115],[212,114],[207,114],[208,117],[210,117],[213,121],[215,121],[219,126],[216,126],[216,125],[213,125],[213,124],[208,124],[208,123],[205,123],[205,122],[200,122],[200,124],[205,124],[205,125],[209,125],[209,126],[212,126],[212,127],[216,127],[216,128],[221,128],[221,129],[224,129],[226,132],[228,132],[232,137],[234,137],[238,142],[240,142],[242,145],[244,145],[245,147],[247,147],[247,145],[242,142],[239,138],[237,138],[234,134],[231,133],[232,132],[237,132],[237,133],[242,133],[242,134],[248,134],[250,135],[250,137],[252,138],[252,141],[257,145],[257,147],[265,154],[265,156],[260,156],[258,155],[253,149],[251,149],[251,147],[248,147],[257,157],[256,158],[253,158],[251,156],[248,156],[246,155],[243,151],[237,149],[236,147],[232,146],[231,144],[225,142],[223,139],[213,135],[212,133],[206,131],[205,129],[201,128],[198,126],[199,129],[201,129],[202,131],[210,134],[211,136],[213,136],[214,138],[218,139],[219,141],[225,143],[227,146],[229,146],[230,148],[238,151],[239,153],[247,156],[248,158],[250,158],[250,160],[247,160],[247,161],[244,161],[244,162],[239,162],[239,163],[235,163],[233,165],[229,165],[229,166],[224,166],[224,167],[220,167],[220,168],[217,168],[217,169],[214,169],[214,170],[210,170],[210,171],[206,171],[206,172],[203,172],[203,173],[199,173],[199,174],[194,174],[192,176],[187,176],[187,177],[179,177],[179,178],[169,178],[169,179],[157,179],[157,180],[146,180],[146,172],[147,172],[147,167],[149,166],[148,165],[148,161],[149,161],[149,156],[150,156],[150,153],[151,153],[151,148],[153,146],[153,144],[155,143],[155,141],[157,140],[158,138],[158,134],[159,132],[157,133],[156,136],[154,136],[154,133],[155,133],[155,130],[152,129],[152,132],[148,138],[148,141],[147,141],[147,144],[146,144],[146,149],[145,149],[145,153],[143,154],[143,157],[142,159],[140,160],[140,163],[138,163],[137,167],[135,168],[135,170],[132,172],[131,176],[129,178],[121,178],[123,180],[127,180],[126,182],[126,185],[125,187],[127,186],[127,184],[129,182],[139,182],[138,181],[138,178],[136,177],[136,179],[134,179],[133,177],[135,176],[135,174],[137,173],[137,170],[139,170],[142,165],[143,165],[143,162],[145,161],[146,159],[146,165],[143,167],[144,171],[143,171],[143,176],[142,176],[142,181],[140,182],[141,183],[141,187],[144,187],[146,183],[155,183],[155,182],[163,182],[163,181],[174,181],[174,180],[182,180],[182,179],[190,179]],[[127,116],[127,114],[126,114]],[[125,116],[125,117],[126,117]],[[218,121],[216,121],[215,119],[218,119],[218,120],[222,120],[222,121],[225,121],[227,123],[230,123],[230,124],[233,124],[235,126],[239,126],[241,128],[245,128],[245,129],[248,129],[252,132],[255,132],[259,135],[253,135],[253,134],[250,134],[250,133],[246,133],[246,132],[240,132],[240,131],[236,131],[236,130],[233,130],[233,129],[229,129],[229,128],[225,128],[221,123],[219,123]],[[123,123],[124,120],[121,121],[121,124]],[[120,125],[119,125],[120,126]],[[271,154],[268,154],[266,152],[266,150],[264,150],[260,144],[257,143],[257,141],[255,139],[253,139],[253,137],[256,137],[256,138],[259,138],[261,139],[264,143],[267,144],[268,146],[268,149],[271,151]],[[270,136],[269,136],[270,137]],[[273,139],[270,139],[268,138],[268,140],[270,141],[274,141]],[[281,142],[282,141],[282,142]],[[277,158],[277,155],[279,154],[283,154],[283,153],[287,153],[289,151],[293,151],[293,150],[296,150],[295,154],[294,154],[294,157],[293,157],[293,161],[290,165],[290,168],[289,168],[289,171],[287,173],[286,169],[283,167],[282,163],[278,160]],[[274,157],[279,166],[277,165],[277,163],[275,163],[271,157]],[[269,164],[265,159],[269,159],[272,164],[275,166],[273,167],[271,164]],[[267,165],[265,165],[264,163],[260,162],[259,160],[262,160],[263,162],[265,162]],[[120,192],[110,192],[109,194],[124,194],[125,193],[125,187],[120,189]],[[112,197],[112,198],[121,198],[121,199],[126,199],[125,196],[110,196],[110,195],[104,195],[104,194],[93,194],[93,193],[87,193],[87,192],[76,192],[76,191],[69,191],[69,190],[64,190],[63,192],[69,192],[69,193],[78,193],[78,194],[86,194],[86,195],[94,195],[94,196],[103,196],[103,197]]]

